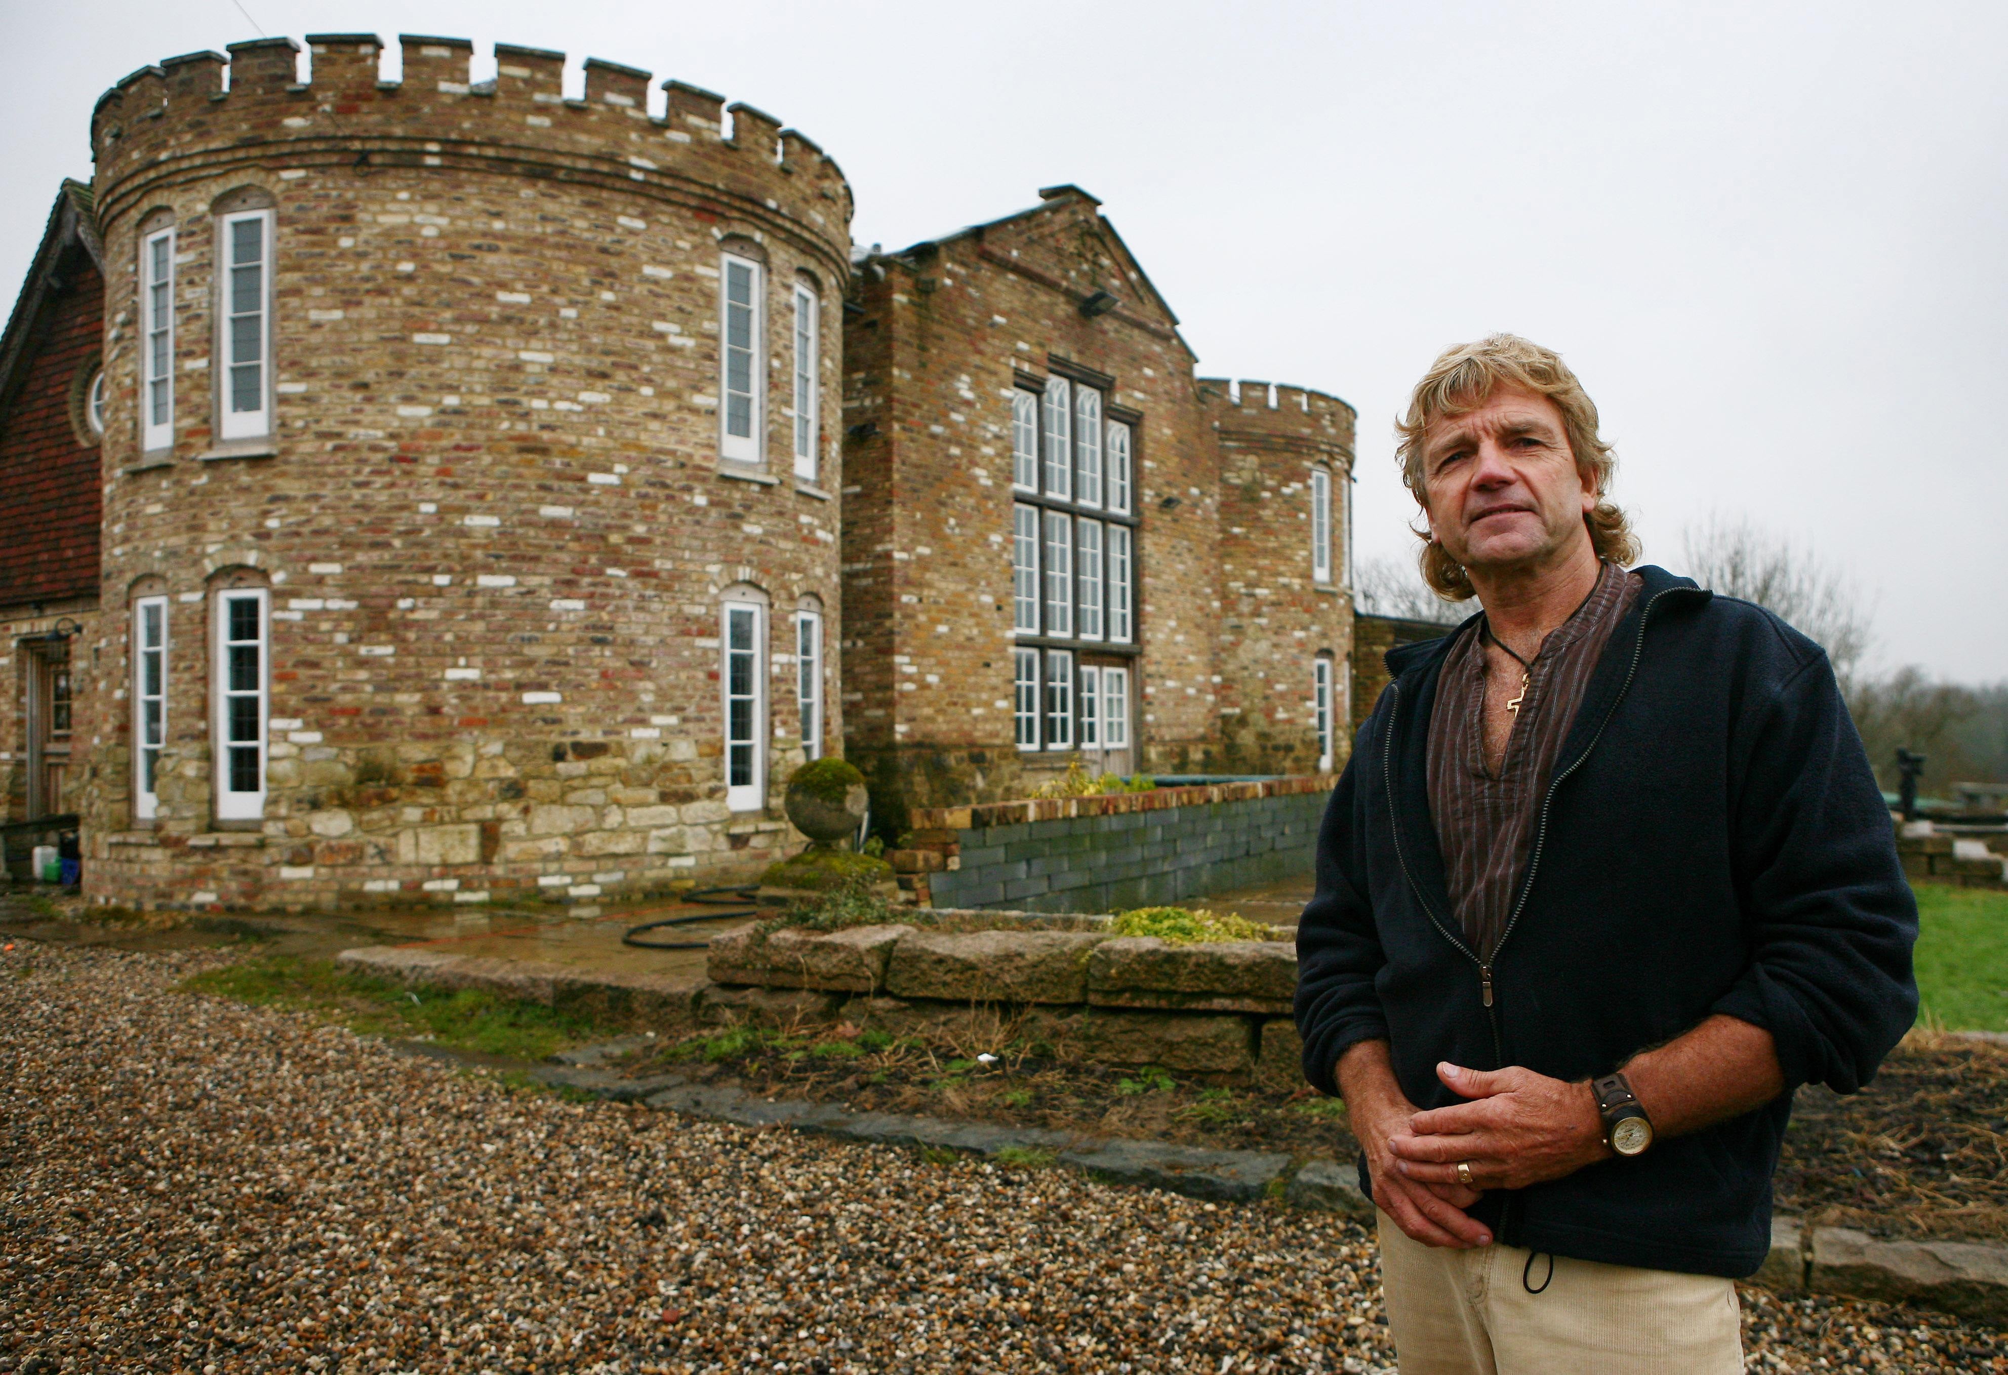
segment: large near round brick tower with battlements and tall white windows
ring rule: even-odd
[[[92,118],[86,893],[590,901],[739,877],[841,739],[851,195],[777,120],[323,34]],[[225,88],[225,72],[229,76]],[[725,132],[727,116],[731,134]]]

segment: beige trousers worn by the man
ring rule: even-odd
[[[1727,1279],[1568,1257],[1550,1277],[1546,1253],[1426,1247],[1386,1212],[1379,1243],[1402,1375],[1743,1375]]]

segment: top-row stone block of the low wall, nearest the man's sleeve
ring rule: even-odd
[[[1102,941],[1088,957],[1088,1002],[1287,1016],[1297,951],[1281,941],[1175,945],[1155,935]]]

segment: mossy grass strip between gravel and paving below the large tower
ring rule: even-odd
[[[261,955],[197,974],[181,988],[257,1008],[311,1012],[363,1036],[432,1040],[512,1060],[544,1060],[566,1046],[616,1034],[616,1028],[544,1004],[476,988],[408,986],[333,959]]]

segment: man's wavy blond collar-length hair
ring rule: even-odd
[[[1630,518],[1622,508],[1604,500],[1610,476],[1616,472],[1616,454],[1596,434],[1596,403],[1568,371],[1568,363],[1554,349],[1544,349],[1520,335],[1494,333],[1476,343],[1458,343],[1430,365],[1430,371],[1416,383],[1408,399],[1408,416],[1396,424],[1400,446],[1396,456],[1402,462],[1402,482],[1424,512],[1430,510],[1428,484],[1422,474],[1422,446],[1430,426],[1464,416],[1480,405],[1498,387],[1518,387],[1544,395],[1562,411],[1562,426],[1568,434],[1568,450],[1576,456],[1576,466],[1596,478],[1596,510],[1582,522],[1590,528],[1590,546],[1598,558],[1614,564],[1639,560],[1639,538],[1633,534]],[[1416,530],[1422,544],[1422,578],[1438,596],[1464,602],[1476,596],[1470,574],[1438,544],[1428,528]]]

